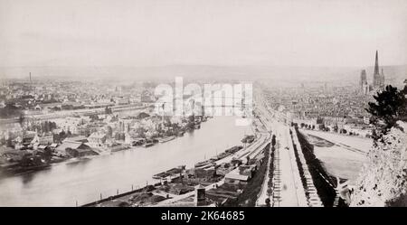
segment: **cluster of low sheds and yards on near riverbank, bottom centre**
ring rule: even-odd
[[[242,191],[251,190],[258,183],[252,183],[255,176],[258,181],[263,176],[268,148],[265,147],[251,157],[232,158],[220,163],[224,155],[234,154],[242,146],[233,146],[220,155],[215,155],[205,164],[195,164],[194,168],[180,165],[153,176],[156,183],[132,192],[112,196],[89,206],[237,206]],[[223,155],[223,156],[222,156]],[[224,182],[222,180],[224,179]],[[252,192],[248,192],[252,194]],[[251,196],[255,199],[257,196]]]

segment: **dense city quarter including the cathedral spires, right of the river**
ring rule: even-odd
[[[359,85],[340,85],[273,89],[263,93],[271,108],[288,115],[289,122],[298,126],[355,136],[372,136],[370,115],[365,108],[374,101],[374,94],[383,89],[383,70],[379,71],[378,52],[375,54],[373,83],[367,81],[366,70],[360,74]],[[315,82],[317,83],[317,82]]]

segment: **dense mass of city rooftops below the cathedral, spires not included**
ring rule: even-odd
[[[361,95],[355,87],[267,89],[265,97],[271,108],[287,112],[289,122],[338,133],[371,133],[370,116],[364,108],[374,98]]]

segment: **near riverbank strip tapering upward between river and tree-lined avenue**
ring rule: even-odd
[[[184,165],[175,167],[173,169],[166,170],[165,172],[157,173],[153,175],[153,178],[156,179],[152,183],[147,183],[146,186],[138,188],[137,190],[132,189],[129,192],[123,192],[109,196],[108,198],[102,198],[95,202],[87,203],[83,206],[92,207],[110,207],[110,206],[150,206],[150,205],[159,205],[159,206],[176,206],[176,205],[190,205],[191,196],[194,195],[194,187],[196,185],[203,185],[208,192],[209,199],[212,199],[213,204],[223,204],[224,199],[219,199],[219,193],[222,192],[222,196],[229,194],[233,199],[239,197],[239,201],[235,202],[239,205],[247,205],[248,200],[252,199],[253,201],[249,202],[250,205],[254,205],[257,195],[260,192],[259,183],[263,182],[264,172],[266,170],[267,162],[269,158],[269,148],[270,148],[270,136],[266,137],[260,135],[259,138],[256,138],[255,141],[246,146],[246,148],[233,146],[232,148],[226,149],[222,154],[224,157],[219,157],[219,155],[213,156],[212,158],[212,167],[208,165],[196,166],[194,168],[187,168]],[[228,155],[225,155],[228,154]],[[231,172],[234,168],[237,168],[236,165],[232,165],[232,162],[237,162],[237,160],[244,160],[249,156],[252,160],[247,161],[246,164],[256,163],[256,172],[250,180],[250,182],[245,186],[244,192],[237,192],[233,185],[225,184],[224,177],[225,174],[229,171]],[[226,167],[227,164],[230,164]],[[225,166],[223,168],[223,166]],[[231,167],[229,167],[231,166]],[[259,167],[260,166],[260,167]],[[226,169],[229,168],[229,169]],[[216,171],[220,173],[212,176],[211,173],[202,173],[204,171]],[[218,171],[220,170],[220,171]],[[198,171],[201,171],[197,173]],[[204,175],[204,179],[198,178],[197,175]],[[158,181],[159,180],[159,181]],[[241,187],[241,185],[239,185]],[[234,191],[225,191],[223,190],[231,189]],[[240,202],[240,203],[239,203]]]

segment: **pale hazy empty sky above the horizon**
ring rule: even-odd
[[[0,66],[407,63],[407,1],[0,0]]]

